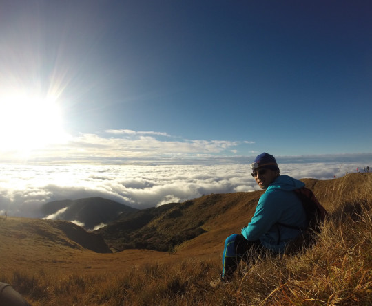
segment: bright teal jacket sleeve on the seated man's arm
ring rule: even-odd
[[[258,240],[278,221],[278,206],[270,192],[264,193],[258,201],[256,212],[248,223],[242,228],[242,235],[249,241]]]

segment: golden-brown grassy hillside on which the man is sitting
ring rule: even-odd
[[[318,243],[296,256],[242,263],[211,289],[227,235],[239,232],[261,192],[208,195],[163,208],[149,223],[165,234],[203,229],[174,252],[99,254],[39,220],[0,220],[0,281],[32,305],[371,305],[372,175],[304,179],[331,212]],[[23,224],[23,225],[22,225]]]

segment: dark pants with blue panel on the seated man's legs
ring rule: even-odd
[[[255,261],[263,247],[259,240],[249,241],[242,234],[232,234],[225,240],[223,249],[223,272],[221,277],[229,280],[242,259]]]

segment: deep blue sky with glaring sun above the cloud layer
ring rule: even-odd
[[[372,152],[371,1],[0,8],[1,162]]]

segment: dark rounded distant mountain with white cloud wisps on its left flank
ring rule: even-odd
[[[124,217],[137,210],[102,197],[52,201],[41,207],[44,218],[49,216],[50,219],[78,221],[86,230],[93,230],[100,224],[116,221],[119,216]]]

